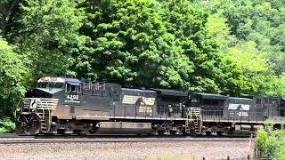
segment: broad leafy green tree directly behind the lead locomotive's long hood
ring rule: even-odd
[[[191,61],[167,33],[155,1],[86,1],[77,73],[126,86],[186,88]],[[82,72],[81,72],[82,73]]]

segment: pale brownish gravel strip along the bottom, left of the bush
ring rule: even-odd
[[[247,141],[1,144],[0,159],[221,159],[253,155]]]

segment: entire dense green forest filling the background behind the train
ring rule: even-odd
[[[1,0],[0,117],[41,76],[285,95],[285,0]]]

